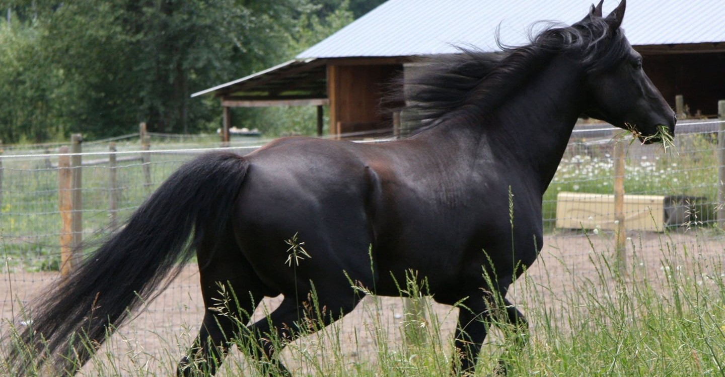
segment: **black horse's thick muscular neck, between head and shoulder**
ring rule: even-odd
[[[507,174],[510,179],[525,179],[543,195],[581,114],[581,77],[573,73],[579,72],[573,65],[555,57],[494,111],[451,114],[413,139],[426,143],[428,148],[421,150],[436,161],[470,169],[489,169],[489,162],[497,161],[514,173]],[[463,166],[460,171],[465,171]]]

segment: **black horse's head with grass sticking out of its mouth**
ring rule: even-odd
[[[592,41],[588,48],[593,62],[587,69],[584,115],[602,119],[634,132],[642,143],[655,143],[672,137],[676,117],[659,90],[642,70],[642,56],[634,51],[620,28],[626,0],[607,17],[602,2],[592,5],[589,15],[573,25],[587,30]],[[592,30],[600,33],[592,33]],[[603,29],[603,30],[602,30]]]

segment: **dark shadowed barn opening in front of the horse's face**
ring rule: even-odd
[[[647,75],[674,109],[682,94],[690,113],[715,116],[725,99],[725,53],[644,54]]]

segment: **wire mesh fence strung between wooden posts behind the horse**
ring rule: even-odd
[[[627,240],[622,263],[648,263],[653,269],[662,268],[662,237],[694,253],[721,253],[725,237],[717,216],[723,205],[718,200],[722,190],[718,170],[723,161],[718,156],[723,145],[718,143],[718,130],[723,123],[681,121],[675,143],[669,148],[620,140],[625,144],[626,161],[626,198],[621,217],[616,217],[613,198],[613,147],[617,140],[613,135],[618,131],[605,124],[576,127],[544,195],[545,245],[540,259],[550,268],[545,273],[532,268],[533,279],[538,276],[541,284],[548,284],[547,289],[555,292],[557,282],[552,282],[551,276],[555,276],[556,268],[587,274],[593,254],[615,258],[617,225],[621,221]],[[82,209],[73,210],[81,214],[83,239],[94,240],[107,232],[112,217],[124,219],[166,177],[198,153],[226,148],[245,154],[264,143],[257,139],[232,140],[222,145],[216,135],[151,137],[148,151],[141,148],[138,135],[83,143],[84,164],[75,168],[82,169],[82,186],[76,188],[82,190]],[[114,143],[115,151],[109,151],[109,143]],[[0,156],[0,248],[4,258],[0,314],[4,322],[18,318],[23,305],[59,276],[64,232],[59,161],[67,156],[58,153],[61,146],[5,146]],[[115,165],[109,158],[112,155],[117,156]],[[561,266],[552,267],[558,263]],[[109,349],[120,353],[129,347],[148,352],[166,349],[165,355],[154,357],[178,358],[182,348],[191,344],[202,320],[198,279],[196,266],[185,268],[143,315],[120,329],[119,340],[111,342]],[[274,302],[270,300],[268,305]],[[399,300],[386,301],[376,308],[382,308],[391,326],[405,310]],[[361,310],[365,309],[356,313]],[[353,319],[341,326],[363,329],[365,324]],[[453,326],[449,324],[447,329],[452,331]]]

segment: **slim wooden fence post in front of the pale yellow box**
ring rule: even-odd
[[[626,240],[627,229],[624,222],[624,167],[625,145],[621,132],[615,131],[614,137],[614,221],[615,221],[615,252],[617,269],[621,276],[626,273]]]

